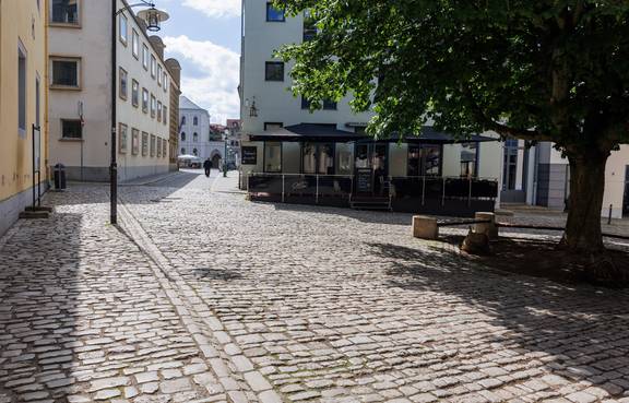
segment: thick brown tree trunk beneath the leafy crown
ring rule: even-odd
[[[605,192],[608,153],[569,155],[570,198],[562,248],[580,253],[598,253],[603,246],[601,211]]]

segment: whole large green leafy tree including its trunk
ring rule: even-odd
[[[281,49],[294,91],[354,96],[368,131],[555,142],[571,167],[561,245],[600,251],[605,163],[629,140],[627,0],[282,0],[313,40]]]

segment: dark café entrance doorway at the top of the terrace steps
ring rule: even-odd
[[[388,195],[389,144],[357,143],[355,155],[355,193],[363,197]]]

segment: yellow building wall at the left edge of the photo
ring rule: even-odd
[[[47,0],[0,0],[0,235],[32,203],[34,143],[47,181]]]

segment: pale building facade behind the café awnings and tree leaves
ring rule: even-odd
[[[426,141],[373,142],[364,135],[372,114],[354,114],[349,97],[327,102],[322,110],[310,112],[306,99],[287,91],[293,64],[273,54],[284,44],[309,40],[316,32],[304,15],[285,16],[265,0],[244,0],[242,15],[239,94],[244,177],[336,175],[351,177],[349,186],[355,188],[360,175],[360,182],[380,194],[379,187],[395,188],[394,178],[474,177],[500,182],[502,145],[488,141],[490,134],[461,144],[427,127],[423,133]],[[369,179],[365,179],[367,169],[372,171]],[[358,193],[357,189],[349,192],[354,197]]]

